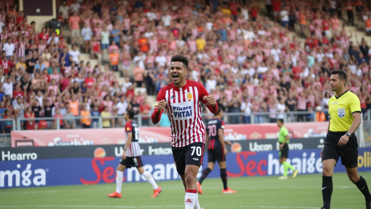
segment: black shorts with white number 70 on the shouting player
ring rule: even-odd
[[[185,165],[203,165],[205,144],[195,142],[185,147],[172,147],[175,167],[179,175],[184,175]]]

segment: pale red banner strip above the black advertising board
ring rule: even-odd
[[[292,138],[324,137],[328,122],[285,123]],[[226,140],[276,139],[276,123],[226,125]],[[169,127],[142,127],[140,143],[170,142]],[[12,131],[12,147],[125,144],[124,128]]]

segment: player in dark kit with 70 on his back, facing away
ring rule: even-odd
[[[218,111],[214,114],[214,118],[207,122],[206,126],[206,144],[207,147],[207,168],[202,171],[200,180],[197,181],[196,185],[198,193],[202,194],[202,181],[206,179],[207,175],[214,169],[215,161],[218,161],[220,168],[220,178],[223,181],[223,194],[232,194],[236,191],[227,187],[227,171],[226,171],[226,155],[228,150],[226,144],[229,146],[231,142],[224,141],[224,121],[223,118],[223,107],[219,106]]]

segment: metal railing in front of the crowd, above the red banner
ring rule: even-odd
[[[286,122],[315,122],[316,121],[316,112],[285,112],[285,113],[276,113],[276,115],[270,112],[259,112],[251,113],[246,115],[242,112],[237,113],[224,113],[224,122],[226,124],[241,124],[241,123],[269,123],[276,122],[277,116],[280,116]],[[275,117],[273,117],[275,116]],[[357,129],[356,135],[360,143],[363,143],[361,146],[371,147],[371,110],[368,110],[364,115],[362,115],[362,125]],[[167,116],[164,115],[165,119],[168,120]],[[83,127],[81,119],[92,119],[90,127]],[[206,123],[213,118],[213,114],[203,114],[203,121]],[[106,119],[110,119],[108,125],[104,123]],[[74,123],[74,128],[121,128],[125,125],[124,116],[75,116],[75,117],[62,117],[62,118],[18,118],[15,119],[0,119],[0,147],[9,146],[10,144],[10,134],[6,133],[4,130],[5,122],[8,122],[9,126],[11,123],[11,130],[25,130],[27,121],[38,121],[40,125],[40,120],[44,120],[47,124],[47,127],[42,129],[60,129],[66,128],[62,123],[69,122]],[[138,126],[158,126],[154,125],[151,121],[151,115],[136,115],[134,120],[138,123]],[[10,122],[10,123],[9,123]],[[104,127],[106,126],[106,127]],[[9,128],[6,130],[9,131]],[[362,142],[361,142],[362,141]]]

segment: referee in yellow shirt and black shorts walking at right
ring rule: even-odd
[[[324,206],[330,209],[332,194],[332,173],[336,162],[341,157],[349,180],[351,180],[365,196],[366,209],[371,209],[371,194],[367,183],[358,175],[358,144],[354,132],[361,124],[361,105],[358,97],[345,89],[347,75],[344,71],[331,71],[330,86],[335,96],[328,102],[330,122],[322,157],[322,197]]]

